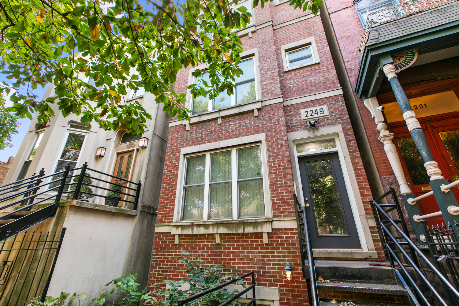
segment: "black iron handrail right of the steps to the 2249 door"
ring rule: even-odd
[[[392,195],[393,204],[377,203],[389,195]],[[448,278],[445,277],[411,241],[395,189],[391,187],[384,195],[381,195],[376,200],[370,201],[370,204],[375,216],[376,227],[381,237],[381,244],[384,248],[386,258],[407,290],[414,305],[432,305],[429,301],[429,295],[433,295],[443,306],[457,306],[459,301],[458,290],[454,288],[448,281]],[[397,211],[397,219],[393,219],[388,215],[388,213],[392,214],[392,211]],[[393,233],[397,234],[394,235]],[[397,254],[399,254],[399,256],[397,256]],[[419,264],[418,258],[424,261],[425,265],[431,269],[436,278],[436,283],[442,284],[448,302],[445,301],[444,296],[438,292],[432,282],[427,279]],[[412,273],[408,271],[407,268],[409,267],[412,268],[412,270],[410,268]],[[424,286],[422,286],[422,283],[424,283]]]

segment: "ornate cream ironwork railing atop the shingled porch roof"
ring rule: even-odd
[[[362,53],[364,52],[365,46],[368,42],[370,28],[373,24],[403,18],[408,15],[413,15],[419,13],[420,11],[425,11],[452,1],[455,0],[409,0],[406,2],[398,3],[394,6],[386,7],[380,11],[367,11],[368,16],[365,22],[362,41],[360,43],[360,51],[362,51]]]

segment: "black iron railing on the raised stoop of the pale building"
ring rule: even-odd
[[[79,170],[79,171],[78,171]],[[91,176],[89,172],[99,173],[102,176],[107,176],[110,179],[114,179],[114,182],[106,181],[101,178],[97,178],[94,175]],[[96,186],[92,183],[85,181],[85,178],[99,181],[109,184],[109,188],[102,186]],[[49,179],[49,182],[43,183],[45,179]],[[76,180],[72,182],[72,180]],[[74,186],[74,187],[72,187]],[[88,188],[84,188],[87,186]],[[111,186],[117,186],[118,189]],[[112,189],[110,189],[110,187]],[[45,175],[45,170],[34,173],[29,178],[23,178],[11,184],[6,184],[0,188],[0,205],[1,203],[7,203],[0,206],[0,212],[13,206],[16,209],[9,211],[0,216],[0,220],[11,220],[11,222],[0,226],[0,241],[3,241],[15,234],[26,230],[38,223],[49,219],[56,214],[57,207],[59,206],[62,196],[67,195],[67,199],[79,199],[79,197],[92,198],[99,196],[106,200],[113,201],[112,206],[118,206],[119,202],[125,203],[123,207],[127,207],[129,204],[133,204],[132,208],[137,210],[140,195],[140,181],[139,183],[131,182],[124,178],[118,178],[110,174],[106,174],[94,169],[90,169],[85,162],[82,167],[71,168],[71,164],[68,163],[64,170],[58,171],[49,175]],[[93,192],[93,189],[101,190],[100,194]],[[113,192],[115,195],[121,195],[120,197],[103,195],[105,191]],[[11,202],[10,202],[11,201]],[[8,203],[9,202],[9,203]],[[38,204],[44,204],[45,207],[37,210],[30,211],[34,206]],[[23,217],[20,217],[24,215]],[[19,218],[17,218],[19,216]]]

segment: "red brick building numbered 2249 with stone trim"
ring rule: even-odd
[[[345,261],[357,271],[385,260],[351,125],[361,119],[347,111],[323,17],[288,3],[257,7],[239,32],[244,74],[234,96],[193,100],[186,87],[200,83],[191,74],[198,67],[178,75],[175,90],[187,93],[193,113],[190,122],[169,122],[150,284],[178,280],[185,273],[180,252],[202,250],[225,273],[256,271],[257,303],[308,304],[293,194],[309,212],[318,275],[330,278]],[[379,269],[368,273],[393,281],[392,289],[324,283],[319,295],[404,304],[404,289]]]

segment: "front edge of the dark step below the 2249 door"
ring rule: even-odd
[[[317,283],[317,288],[320,290],[339,290],[339,291],[353,291],[363,293],[381,293],[381,294],[395,294],[407,295],[406,290],[396,284],[378,284],[378,283],[355,283],[355,282],[339,282],[339,283]]]

